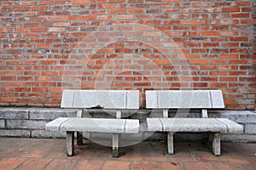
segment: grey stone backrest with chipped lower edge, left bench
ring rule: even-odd
[[[62,108],[138,109],[138,90],[64,90]]]

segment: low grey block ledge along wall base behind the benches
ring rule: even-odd
[[[86,112],[86,113],[85,113]],[[123,113],[125,117],[131,119],[139,119],[140,123],[146,122],[148,117],[162,116],[162,111],[157,110],[139,110],[125,111]],[[112,118],[115,115],[114,111],[96,111],[89,110],[84,111],[84,116],[91,117],[106,117]],[[188,117],[200,117],[200,110],[191,110],[188,114],[184,113]],[[256,114],[253,111],[208,111],[208,115],[212,118],[228,118],[231,121],[240,123],[243,127],[242,134],[223,134],[222,141],[227,142],[256,142]],[[44,130],[44,126],[47,122],[54,120],[57,117],[75,117],[76,110],[72,109],[59,109],[59,108],[10,108],[0,107],[0,136],[6,137],[26,137],[26,138],[65,138],[66,133],[49,132]],[[177,110],[169,111],[170,117],[177,117]],[[12,124],[7,125],[7,122]],[[35,123],[36,128],[31,128],[29,123]],[[201,139],[199,133],[176,133],[175,139],[177,141],[197,141]],[[91,138],[96,137],[99,139],[104,135],[102,133],[91,133]],[[137,136],[137,139],[148,140],[165,140],[165,133],[148,133],[141,132],[132,134]],[[129,139],[129,138],[128,138]]]

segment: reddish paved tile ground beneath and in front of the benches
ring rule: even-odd
[[[0,138],[0,169],[256,169],[256,144],[222,144],[222,156],[197,143],[176,143],[176,154],[166,155],[166,144],[142,142],[121,148],[125,156],[113,158],[111,148],[88,141],[66,156],[65,139]]]

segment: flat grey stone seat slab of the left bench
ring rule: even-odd
[[[59,117],[45,126],[50,131],[138,133],[139,120]]]

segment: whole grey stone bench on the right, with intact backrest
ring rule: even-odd
[[[146,108],[163,111],[161,118],[147,118],[149,132],[167,132],[168,154],[174,154],[173,134],[177,132],[213,133],[212,152],[220,156],[220,133],[242,133],[243,128],[226,118],[208,118],[207,109],[223,109],[220,90],[146,91]],[[169,109],[177,114],[189,109],[201,109],[202,118],[168,117]],[[180,110],[180,111],[179,111]]]

